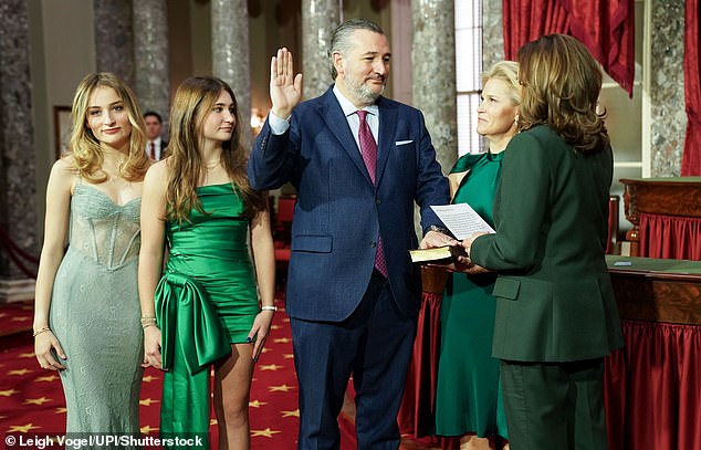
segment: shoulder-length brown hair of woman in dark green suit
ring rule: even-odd
[[[519,49],[521,130],[550,125],[575,150],[592,154],[609,146],[597,113],[601,69],[576,39],[550,34]]]

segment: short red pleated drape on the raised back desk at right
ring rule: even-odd
[[[639,255],[701,261],[701,218],[640,213]]]

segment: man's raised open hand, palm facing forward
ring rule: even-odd
[[[285,48],[270,60],[270,100],[273,114],[284,119],[302,100],[302,74],[294,75],[292,53]]]

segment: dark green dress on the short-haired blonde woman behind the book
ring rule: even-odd
[[[468,171],[453,203],[469,203],[493,227],[492,205],[503,153],[464,155],[451,172]],[[440,310],[436,433],[508,438],[499,360],[492,358],[495,273],[448,279]]]

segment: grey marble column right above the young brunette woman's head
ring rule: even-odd
[[[244,146],[251,142],[251,72],[247,0],[211,0],[212,73],[237,96]]]

